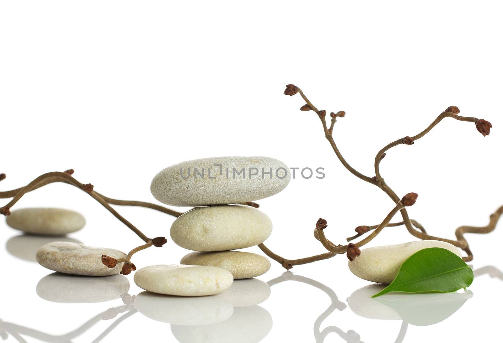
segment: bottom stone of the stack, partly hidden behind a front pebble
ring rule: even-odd
[[[191,252],[180,263],[220,267],[229,271],[234,279],[255,278],[271,268],[271,262],[264,256],[244,251]]]

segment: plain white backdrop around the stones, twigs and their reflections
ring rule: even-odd
[[[298,110],[304,104],[299,95],[282,94],[287,83],[295,83],[318,109],[346,111],[334,139],[346,159],[369,176],[381,147],[422,131],[450,105],[458,106],[460,115],[490,121],[494,129],[482,137],[473,123],[447,118],[414,145],[389,151],[381,163],[383,177],[399,196],[419,194],[411,218],[429,233],[453,238],[457,226],[486,225],[503,203],[500,16],[500,5],[486,1],[2,2],[0,172],[8,179],[0,186],[13,189],[40,174],[74,168],[77,180],[109,197],[155,202],[152,177],[184,160],[265,155],[290,167],[324,167],[325,179],[296,178],[280,194],[259,201],[273,220],[267,245],[275,252],[288,258],[321,253],[312,237],[319,217],[328,221],[329,239],[344,242],[356,226],[379,223],[393,202],[347,172],[316,115]],[[80,211],[87,225],[73,237],[87,244],[127,251],[141,243],[67,185],[30,193],[16,208],[29,206]],[[147,236],[169,236],[172,217],[118,210]],[[475,268],[503,269],[500,230],[469,237]],[[2,231],[5,241],[18,235],[6,225]],[[390,228],[369,246],[410,240],[403,227]],[[186,252],[170,241],[138,253],[135,262],[178,263]],[[56,334],[120,305],[120,299],[43,301],[35,285],[48,270],[5,249],[0,259],[4,321]],[[368,284],[349,273],[345,256],[293,271],[327,285],[342,301]],[[273,262],[259,279],[281,273]],[[139,293],[129,279],[130,294]],[[409,326],[404,341],[449,335],[500,339],[495,335],[501,285],[476,278],[473,298],[458,312],[436,325]],[[274,322],[264,341],[314,341],[312,325],[329,303],[307,285],[274,286],[261,304]],[[176,341],[169,324],[140,314],[134,318],[103,341],[142,335]],[[336,310],[321,328],[330,325],[353,329],[366,342],[386,342],[395,339],[400,322],[365,319],[347,308]],[[325,341],[342,340],[331,333]]]

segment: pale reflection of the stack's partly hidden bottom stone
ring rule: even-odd
[[[219,294],[228,299],[234,307],[258,305],[271,295],[271,287],[258,279],[234,280],[232,286]]]

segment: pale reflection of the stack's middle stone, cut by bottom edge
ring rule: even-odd
[[[236,307],[229,319],[217,324],[197,326],[171,324],[171,332],[181,343],[258,343],[267,336],[272,327],[271,314],[256,305]]]

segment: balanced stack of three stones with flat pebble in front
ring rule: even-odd
[[[181,265],[138,270],[136,284],[161,294],[210,295],[230,287],[232,279],[266,273],[267,258],[235,250],[266,240],[272,222],[262,211],[240,204],[277,194],[289,181],[283,162],[261,156],[203,158],[161,170],[152,180],[152,195],[167,205],[195,207],[177,218],[170,232],[175,243],[195,252]]]

